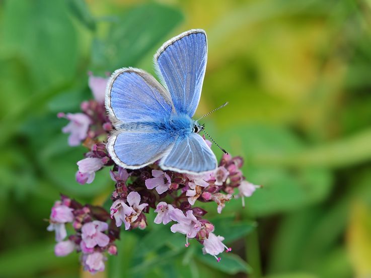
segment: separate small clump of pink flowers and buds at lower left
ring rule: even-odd
[[[107,223],[109,221],[110,224]],[[56,256],[66,256],[74,250],[81,252],[84,269],[95,273],[103,271],[105,253],[117,253],[114,241],[118,239],[119,230],[110,215],[101,207],[83,206],[75,200],[61,196],[51,209],[48,231],[55,231],[57,244]],[[74,230],[67,237],[65,224]]]

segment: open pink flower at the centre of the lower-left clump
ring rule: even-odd
[[[110,239],[105,233],[102,233],[106,230],[108,230],[108,224],[106,222],[95,220],[84,224],[81,228],[81,237],[86,247],[93,248],[96,245],[100,247],[107,246]]]

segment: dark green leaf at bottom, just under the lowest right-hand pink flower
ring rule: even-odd
[[[197,252],[197,259],[208,266],[220,270],[228,274],[237,274],[239,272],[251,273],[251,267],[238,255],[233,253],[222,253],[220,254],[221,260],[219,262],[213,256],[208,254],[202,254]]]

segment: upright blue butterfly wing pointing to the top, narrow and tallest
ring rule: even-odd
[[[200,100],[206,70],[205,31],[189,30],[167,41],[155,54],[154,61],[175,110],[192,117]]]

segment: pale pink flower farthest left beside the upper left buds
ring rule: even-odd
[[[58,117],[63,117],[64,114],[58,114]],[[88,136],[89,125],[92,123],[90,118],[83,113],[71,114],[65,116],[70,122],[64,128],[63,133],[70,133],[68,137],[68,145],[78,146]]]

